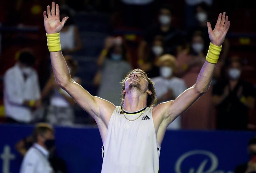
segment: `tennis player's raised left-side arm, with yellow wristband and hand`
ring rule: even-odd
[[[58,86],[68,92],[68,94],[81,108],[96,120],[97,124],[99,120],[103,120],[105,125],[107,125],[106,123],[108,123],[109,115],[105,112],[112,113],[115,106],[106,100],[92,96],[82,86],[77,84],[71,78],[68,66],[61,53],[59,36],[57,33],[59,33],[63,28],[67,19],[68,17],[65,17],[60,22],[59,5],[56,4],[55,6],[54,2],[52,2],[52,10],[49,5],[47,6],[47,16],[46,11],[44,11],[44,27],[47,33],[48,48],[50,51],[52,69],[56,82]]]

